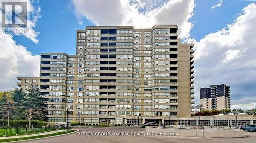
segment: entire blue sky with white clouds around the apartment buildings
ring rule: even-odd
[[[0,53],[0,72],[8,73],[0,75],[3,81],[0,90],[14,88],[16,77],[38,76],[41,52],[75,54],[77,29],[95,25],[151,28],[169,24],[179,26],[178,34],[183,42],[194,43],[196,104],[199,103],[199,88],[225,83],[231,86],[232,108],[256,106],[255,1],[59,0],[30,3],[33,6],[29,11],[33,23],[29,26],[30,35],[0,34],[0,52],[4,53]]]

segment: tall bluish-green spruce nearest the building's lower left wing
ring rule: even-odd
[[[38,85],[31,85],[24,100],[24,105],[26,107],[26,117],[29,120],[29,128],[33,118],[42,120],[46,117],[45,114],[47,105],[45,103],[46,99],[40,93],[40,88]]]

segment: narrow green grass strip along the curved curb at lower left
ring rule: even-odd
[[[74,131],[76,131],[76,130],[69,130],[67,133],[74,132]],[[42,138],[42,137],[55,136],[55,135],[61,135],[61,134],[66,134],[66,132],[63,131],[63,132],[58,132],[58,133],[53,133],[53,134],[38,135],[38,136],[23,137],[23,138],[0,139],[0,142],[27,140],[27,139]]]

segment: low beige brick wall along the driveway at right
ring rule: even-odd
[[[245,136],[243,130],[187,130],[146,127],[146,132],[153,132],[155,134],[177,133],[178,136],[188,137],[237,138]]]

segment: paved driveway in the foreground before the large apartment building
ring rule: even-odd
[[[205,142],[226,142],[226,143],[236,143],[236,142],[256,142],[256,132],[245,132],[247,137],[244,138],[199,138],[199,137],[181,137],[181,136],[155,136],[152,134],[147,135],[144,131],[145,128],[141,127],[80,127],[79,132],[53,137],[40,140],[33,140],[27,142],[54,142],[54,143],[79,143],[79,142],[140,142],[140,143],[156,143],[156,142],[195,142],[195,143],[205,143]],[[113,134],[112,134],[113,133]],[[116,136],[111,136],[116,133]],[[120,133],[120,134],[118,134]],[[121,135],[123,133],[123,135]],[[124,134],[126,133],[126,134]],[[144,134],[145,133],[145,134]]]

